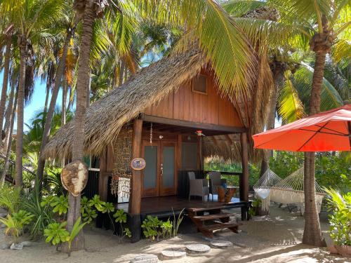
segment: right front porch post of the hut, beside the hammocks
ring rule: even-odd
[[[249,201],[249,156],[247,149],[247,135],[246,133],[240,133],[241,142],[241,184],[240,184],[240,201]],[[246,220],[247,209],[241,208],[241,220]]]

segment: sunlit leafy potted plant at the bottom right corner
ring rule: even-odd
[[[351,255],[351,193],[340,194],[334,189],[324,189],[328,196],[329,233],[334,245],[329,246],[332,253]]]

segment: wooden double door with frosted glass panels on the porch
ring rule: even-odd
[[[176,194],[177,142],[143,140],[143,197]]]

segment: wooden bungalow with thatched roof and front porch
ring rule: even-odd
[[[258,76],[255,93],[262,93],[263,78]],[[235,174],[240,177],[240,201],[235,205],[246,211],[248,134],[263,122],[262,118],[253,120],[255,112],[264,115],[260,105],[265,100],[261,96],[259,103],[244,102],[220,93],[215,74],[196,48],[162,58],[88,108],[84,151],[100,161],[91,165],[95,179],[89,175],[85,193],[98,192],[102,200],[117,203],[128,201],[131,194],[125,208],[138,225],[139,215],[166,215],[180,205],[179,200],[173,204],[159,201],[150,208],[153,202],[142,198],[187,197],[188,172],[204,177],[204,157],[215,154],[241,161],[242,173]],[[74,120],[60,128],[46,145],[44,156],[69,158],[73,129]],[[135,157],[145,159],[144,170],[131,169]]]

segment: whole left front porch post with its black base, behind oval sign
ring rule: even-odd
[[[132,158],[141,157],[141,138],[143,120],[135,119],[133,126]],[[140,204],[141,204],[142,178],[140,170],[132,170],[131,195],[128,212],[131,216],[131,242],[138,242],[141,236]]]

